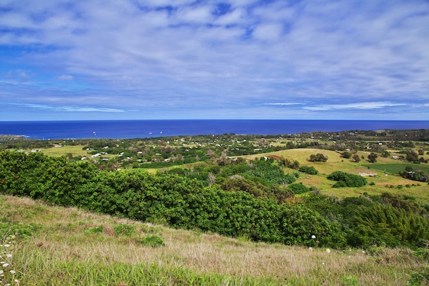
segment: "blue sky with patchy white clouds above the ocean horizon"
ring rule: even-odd
[[[0,121],[429,120],[429,1],[0,0]]]

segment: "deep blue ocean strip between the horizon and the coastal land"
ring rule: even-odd
[[[0,134],[29,139],[134,139],[199,134],[296,134],[311,131],[429,129],[429,121],[117,120],[0,121]]]

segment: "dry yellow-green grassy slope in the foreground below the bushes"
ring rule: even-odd
[[[428,264],[408,248],[252,243],[4,195],[0,213],[3,234],[18,233],[9,267],[20,285],[406,285]]]

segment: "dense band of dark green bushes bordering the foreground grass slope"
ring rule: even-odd
[[[417,213],[415,208],[402,208],[405,203],[384,205],[367,198],[337,201],[313,194],[303,202],[288,203],[279,198],[291,198],[291,191],[273,186],[291,177],[278,178],[279,166],[272,160],[211,167],[201,169],[195,178],[173,171],[109,172],[66,157],[2,151],[0,191],[175,228],[288,245],[414,246],[429,239],[427,211],[419,206]],[[219,176],[224,172],[228,176]],[[198,178],[203,174],[207,178]],[[211,185],[210,174],[216,177]],[[302,184],[289,186],[303,189]]]

